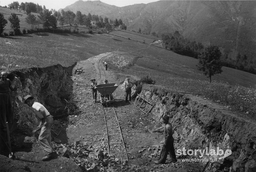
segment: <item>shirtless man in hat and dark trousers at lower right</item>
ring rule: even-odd
[[[167,158],[167,155],[170,155],[171,161],[176,162],[176,155],[174,150],[174,138],[172,137],[172,125],[169,122],[169,117],[164,115],[162,118],[162,122],[165,124],[164,126],[164,143],[160,153],[160,157],[158,161],[154,161],[155,164],[164,164]]]

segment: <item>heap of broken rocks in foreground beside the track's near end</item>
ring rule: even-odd
[[[127,160],[121,160],[109,155],[105,140],[101,145],[89,146],[87,142],[77,140],[73,144],[55,144],[53,147],[59,156],[73,159],[84,171],[113,171],[117,166],[126,171]]]

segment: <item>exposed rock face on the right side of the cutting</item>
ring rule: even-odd
[[[203,98],[174,93],[158,85],[144,84],[141,95],[145,95],[148,101],[157,102],[153,109],[153,118],[158,121],[163,115],[168,115],[175,127],[186,116],[173,134],[175,150],[182,150],[183,147],[186,150],[204,150],[208,147],[208,151],[219,148],[224,150],[224,153],[231,150],[232,154],[224,159],[219,159],[224,154],[222,156],[204,154],[202,158],[218,159],[208,166],[212,171],[255,169],[255,122],[238,117],[230,111],[216,110],[221,107]],[[159,126],[155,126],[155,129]],[[198,155],[200,154],[198,153],[197,156],[194,154],[190,158],[199,158]],[[178,158],[187,157],[181,155]]]

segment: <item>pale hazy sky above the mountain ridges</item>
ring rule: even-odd
[[[8,6],[8,4],[11,4],[13,1],[18,1],[19,3],[25,3],[25,2],[32,2],[35,4],[39,4],[43,7],[45,5],[46,9],[60,9],[65,8],[68,5],[71,5],[75,3],[78,0],[0,0],[0,6]],[[85,0],[84,0],[85,1]],[[94,0],[92,0],[94,1]],[[155,2],[158,0],[100,0],[103,3],[115,5],[117,7],[124,7],[127,5],[133,5],[133,4],[147,4],[151,2]]]

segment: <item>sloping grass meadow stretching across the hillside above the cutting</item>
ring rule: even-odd
[[[118,36],[114,34],[117,33]],[[209,79],[196,69],[197,59],[175,54],[147,43],[127,38],[135,34],[120,31],[108,34],[35,33],[0,38],[0,70],[8,64],[18,68],[45,67],[61,64],[64,67],[106,52],[128,52],[140,57],[133,66],[122,68],[127,75],[150,76],[156,84],[173,91],[191,92],[228,106],[242,117],[254,118],[256,112],[256,75],[223,67],[223,73]],[[146,35],[147,36],[147,35]],[[151,41],[149,41],[151,43]],[[140,49],[141,47],[141,49]],[[11,68],[15,69],[15,68]],[[10,69],[10,70],[11,70]],[[248,114],[246,113],[248,112]]]

